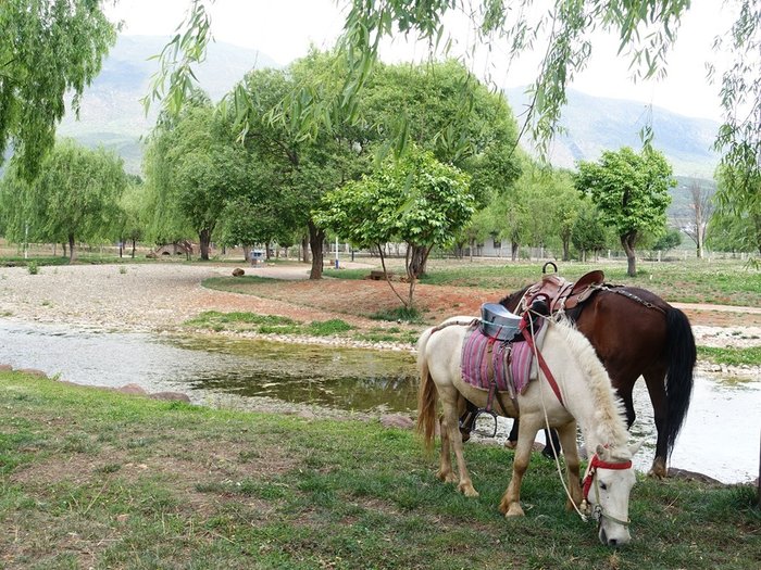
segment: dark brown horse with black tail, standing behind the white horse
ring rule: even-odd
[[[528,287],[500,304],[516,312]],[[693,393],[697,359],[695,337],[685,314],[654,293],[636,287],[602,286],[566,316],[595,347],[624,402],[626,420],[635,419],[632,391],[643,376],[652,402],[658,440],[650,473],[666,477]]]

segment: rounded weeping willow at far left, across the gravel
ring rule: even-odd
[[[70,259],[75,258],[77,241],[104,239],[118,223],[120,199],[127,185],[122,160],[102,149],[89,150],[71,140],[59,142],[40,166],[34,182],[23,180],[22,170],[12,167],[5,175],[2,206],[12,219],[13,240],[67,243]]]

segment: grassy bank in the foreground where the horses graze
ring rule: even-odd
[[[497,510],[512,452],[467,446],[482,495],[376,422],[211,410],[0,372],[0,566],[745,569],[749,486],[640,478],[634,543],[602,547],[534,457],[527,517]]]

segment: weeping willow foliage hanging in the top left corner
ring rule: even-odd
[[[0,163],[9,143],[30,179],[55,142],[55,127],[116,41],[99,0],[0,2]]]

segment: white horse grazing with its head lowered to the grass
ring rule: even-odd
[[[417,341],[417,367],[421,375],[417,429],[425,444],[432,447],[437,419],[437,394],[444,404],[441,427],[441,458],[438,478],[457,482],[452,471],[450,449],[454,451],[459,471],[459,491],[465,496],[478,496],[465,467],[459,417],[464,411],[465,400],[484,408],[488,391],[475,388],[462,380],[460,363],[462,345],[473,317],[453,317],[438,327],[423,332]],[[541,354],[556,378],[562,403],[550,389],[545,373],[532,366],[532,381],[516,404],[507,393],[497,392],[492,410],[521,418],[519,441],[513,459],[510,484],[499,505],[507,517],[523,516],[520,503],[521,481],[528,466],[536,432],[549,426],[560,434],[565,456],[567,508],[586,505],[599,521],[599,539],[602,544],[617,546],[631,541],[628,532],[628,497],[635,483],[632,457],[641,445],[628,446],[628,432],[623,406],[615,398],[610,379],[595,354],[589,341],[572,325],[547,321],[548,330]],[[537,379],[538,378],[538,379]],[[519,411],[520,410],[520,411]],[[595,449],[584,484],[579,484],[579,460],[576,448],[576,422],[587,449]],[[590,492],[594,490],[594,492]]]

